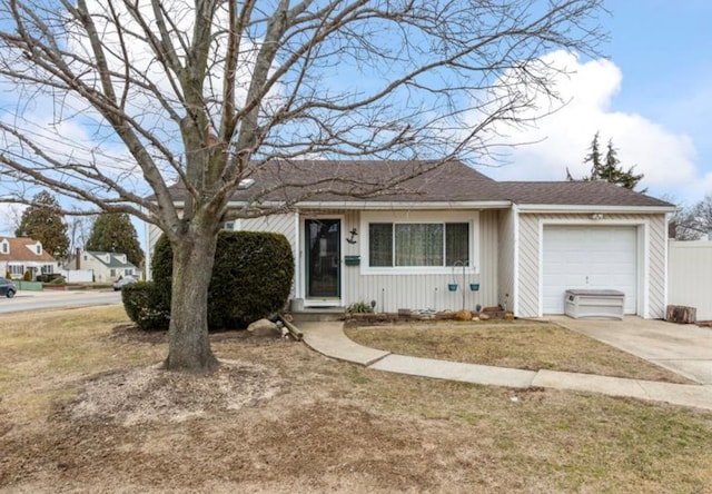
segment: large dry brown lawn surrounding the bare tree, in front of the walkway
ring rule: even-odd
[[[144,395],[115,399],[115,413],[78,414],[87,401],[101,399],[92,392],[101,383],[120,385],[164,357],[164,334],[126,323],[119,307],[0,317],[0,492],[706,493],[712,486],[710,413],[386,374],[245,333],[212,335],[214,349],[268,369],[248,377],[253,385],[260,375],[276,377],[271,397],[230,408],[199,391],[229,378],[237,388],[240,373],[170,375]],[[147,406],[154,392],[164,393],[155,419],[127,425],[121,413]],[[201,413],[178,419],[160,413],[185,402]]]

